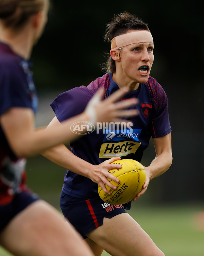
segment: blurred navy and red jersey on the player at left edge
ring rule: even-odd
[[[29,62],[0,42],[0,116],[14,107],[37,110],[37,96]],[[25,160],[12,151],[0,125],[0,205],[26,189]]]

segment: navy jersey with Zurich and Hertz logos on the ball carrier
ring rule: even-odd
[[[80,86],[60,94],[50,105],[57,119],[62,122],[67,118],[81,113],[99,87],[105,88],[105,96],[118,90],[118,85],[112,79],[112,73],[107,73],[87,87]],[[94,132],[81,136],[70,143],[71,152],[93,165],[111,158],[132,158],[141,161],[143,151],[149,145],[150,138],[157,138],[171,132],[168,115],[168,100],[164,89],[158,82],[149,77],[147,83],[128,92],[121,100],[138,98],[139,115],[130,117],[132,130],[95,129]],[[99,128],[99,127],[98,127]],[[98,184],[90,179],[67,170],[62,190],[73,197],[90,199],[98,197]]]

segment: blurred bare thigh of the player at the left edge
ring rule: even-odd
[[[17,256],[92,256],[62,214],[43,200],[17,214],[0,234],[0,244]]]

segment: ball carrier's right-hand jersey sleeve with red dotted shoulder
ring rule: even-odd
[[[152,138],[157,138],[171,132],[168,98],[162,86],[152,77],[150,78],[150,90],[154,108],[151,133]]]

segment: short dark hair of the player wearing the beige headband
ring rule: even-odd
[[[113,16],[113,19],[106,24],[106,33],[104,40],[111,42],[114,37],[127,33],[128,30],[147,30],[150,32],[148,25],[133,14],[123,12]],[[107,73],[116,71],[115,60],[109,56],[107,62],[103,65],[102,70]]]

